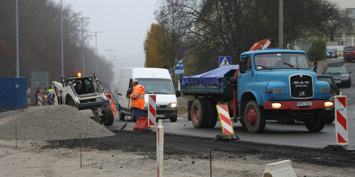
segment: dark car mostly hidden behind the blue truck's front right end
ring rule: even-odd
[[[332,75],[327,74],[317,74],[317,80],[326,81],[331,86],[331,99],[334,99],[336,95],[340,94],[339,87],[335,84],[334,78]],[[335,119],[335,109],[326,108],[327,111],[327,123],[330,124]]]

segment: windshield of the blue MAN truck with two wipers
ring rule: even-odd
[[[264,69],[310,69],[304,53],[263,53],[254,56],[256,70]]]

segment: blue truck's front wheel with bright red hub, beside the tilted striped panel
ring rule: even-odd
[[[265,129],[264,109],[259,107],[254,100],[249,101],[245,107],[244,122],[250,133],[261,133]]]

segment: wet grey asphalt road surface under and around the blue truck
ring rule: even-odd
[[[355,83],[355,62],[346,63],[350,74]],[[349,145],[354,146],[355,137],[355,95],[354,84],[349,87],[340,87],[342,95],[347,96],[347,114],[348,114],[348,137]],[[130,118],[129,118],[130,120]],[[120,130],[125,121],[118,119],[115,116],[115,121],[112,126],[107,126],[110,130]],[[132,130],[135,122],[128,122],[125,130]],[[187,121],[187,117],[178,117],[177,122],[170,122],[169,119],[163,120],[165,133],[191,135],[198,137],[214,138],[216,135],[223,134],[219,122],[213,129],[196,129],[191,121]],[[303,122],[295,122],[293,125],[286,125],[278,121],[267,121],[265,130],[262,133],[249,133],[246,128],[242,127],[239,122],[233,123],[235,135],[239,136],[242,141],[268,143],[277,145],[293,145],[300,147],[324,148],[328,145],[336,145],[335,121],[331,124],[326,124],[320,132],[310,132],[306,129]]]

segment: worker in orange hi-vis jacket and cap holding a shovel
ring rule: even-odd
[[[131,107],[133,108],[135,114],[135,120],[137,121],[138,117],[142,117],[142,109],[144,109],[144,86],[138,83],[138,80],[135,79],[132,82],[133,91],[131,95],[128,95],[128,98],[132,98]]]

